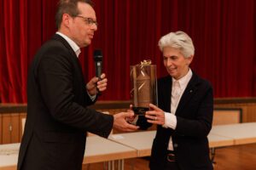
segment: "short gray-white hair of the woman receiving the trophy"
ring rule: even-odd
[[[170,32],[166,34],[166,36],[160,38],[158,46],[161,52],[163,51],[163,48],[166,47],[177,48],[185,58],[188,58],[191,55],[194,56],[195,54],[195,47],[192,39],[183,31]]]

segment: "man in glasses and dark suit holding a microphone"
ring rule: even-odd
[[[91,2],[61,0],[56,25],[58,31],[39,49],[28,75],[19,170],[80,170],[87,131],[107,138],[112,127],[137,129],[125,122],[131,112],[109,116],[86,108],[96,102],[97,88],[107,88],[104,74],[102,81],[94,77],[85,86],[79,65],[80,48],[90,44],[97,30]]]

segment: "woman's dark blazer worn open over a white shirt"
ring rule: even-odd
[[[172,77],[160,78],[158,80],[158,105],[163,111],[171,112],[171,92]],[[207,139],[212,128],[212,112],[212,86],[193,72],[177,106],[176,129],[157,127],[150,169],[164,168],[170,136],[172,136],[177,164],[182,170],[212,169]],[[143,119],[139,119],[137,124],[144,129],[150,126]]]

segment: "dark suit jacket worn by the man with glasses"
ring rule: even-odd
[[[86,108],[79,59],[55,34],[32,61],[27,82],[27,117],[18,170],[80,170],[86,132],[107,138],[113,116]]]

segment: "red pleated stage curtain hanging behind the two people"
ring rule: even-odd
[[[26,103],[27,69],[55,29],[57,0],[0,0],[0,99]],[[108,90],[101,100],[130,99],[130,65],[151,59],[166,75],[157,47],[170,31],[195,43],[191,67],[212,82],[214,97],[256,95],[256,3],[253,0],[94,0],[100,25],[79,57],[86,80],[95,75],[93,50],[103,52]]]

